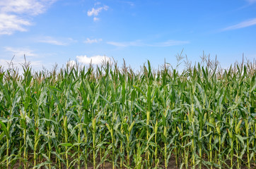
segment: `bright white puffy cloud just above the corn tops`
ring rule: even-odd
[[[103,63],[103,61],[111,61],[111,59],[107,56],[91,56],[91,57],[87,57],[86,55],[84,56],[76,56],[76,59],[79,63],[83,63],[83,64],[100,64]]]

